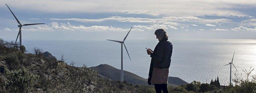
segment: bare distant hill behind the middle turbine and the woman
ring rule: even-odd
[[[115,81],[120,80],[121,70],[116,69],[110,65],[101,64],[99,66],[90,67],[90,68],[96,70],[99,76],[104,76],[102,78],[108,78]],[[125,70],[124,70],[124,80],[127,81],[127,83],[131,83],[131,84],[148,85],[147,79]],[[168,78],[168,83],[169,85],[172,85],[172,86],[188,84],[186,81],[178,77],[170,77],[170,76]]]

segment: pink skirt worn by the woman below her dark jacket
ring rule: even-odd
[[[150,80],[153,84],[167,84],[168,83],[169,68],[153,68],[152,78]]]

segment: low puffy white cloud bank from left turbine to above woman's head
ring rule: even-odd
[[[156,29],[178,29],[171,25],[165,24],[154,24],[154,25],[134,25],[133,31],[154,31]],[[52,22],[44,26],[34,26],[29,29],[23,29],[23,31],[66,31],[66,32],[76,32],[76,31],[86,31],[86,32],[95,32],[95,31],[128,31],[130,28],[120,28],[113,26],[84,26],[84,25],[72,25],[70,23],[57,23]]]

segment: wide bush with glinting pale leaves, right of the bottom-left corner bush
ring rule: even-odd
[[[81,68],[73,68],[67,70],[65,63],[58,63],[56,69],[52,72],[55,75],[51,81],[51,86],[48,92],[55,93],[83,93],[93,92],[98,80],[97,72],[82,66]]]

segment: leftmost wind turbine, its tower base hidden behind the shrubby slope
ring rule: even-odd
[[[7,4],[5,4],[6,6],[7,6]],[[8,7],[8,6],[7,6]],[[11,11],[11,9],[8,7],[8,9]],[[12,11],[11,11],[12,12]],[[19,35],[20,35],[20,46],[22,45],[21,44],[21,27],[22,26],[27,26],[27,25],[36,25],[36,24],[45,24],[45,23],[31,23],[31,24],[21,24],[20,23],[20,21],[16,18],[16,16],[13,14],[13,12],[12,12],[12,15],[14,16],[14,18],[16,19],[16,21],[19,23],[19,25],[18,25],[18,27],[20,28],[19,29],[19,33],[18,33],[18,35],[17,35],[17,38],[16,38],[16,41],[15,41],[15,44],[16,44],[16,42],[17,42],[17,39],[18,39],[18,37],[19,37]]]

